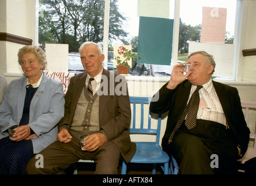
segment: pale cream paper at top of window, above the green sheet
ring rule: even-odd
[[[170,0],[138,0],[138,16],[169,19]]]

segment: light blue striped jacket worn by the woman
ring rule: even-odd
[[[6,130],[19,125],[22,118],[27,78],[11,81],[0,106],[1,138],[8,136]],[[62,84],[45,76],[30,103],[29,126],[38,138],[31,139],[34,153],[38,153],[57,140],[59,120],[64,116],[64,93]],[[40,137],[39,137],[40,136]]]

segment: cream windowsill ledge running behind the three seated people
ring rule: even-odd
[[[23,77],[23,73],[17,72],[6,72],[3,74],[5,77]],[[125,76],[127,81],[142,81],[142,82],[159,82],[167,83],[170,80],[170,77],[152,77],[152,76]],[[256,86],[256,82],[252,81],[233,81],[229,78],[215,78],[215,81],[218,81],[227,85],[244,85],[244,86]]]

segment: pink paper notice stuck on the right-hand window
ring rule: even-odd
[[[202,7],[200,42],[225,43],[226,8]]]

